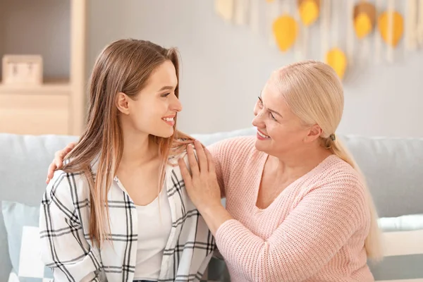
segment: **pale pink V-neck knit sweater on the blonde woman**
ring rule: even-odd
[[[232,281],[374,281],[364,250],[369,209],[354,168],[330,156],[259,209],[267,154],[254,144],[236,137],[209,148],[234,218],[216,232]]]

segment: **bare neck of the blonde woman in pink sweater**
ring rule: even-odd
[[[272,171],[276,173],[276,177],[299,178],[331,154],[331,151],[320,145],[310,145],[309,147],[292,150],[288,154],[269,156],[269,162]]]

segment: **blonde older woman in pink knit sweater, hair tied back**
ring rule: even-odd
[[[336,140],[342,113],[333,69],[302,61],[266,82],[254,109],[257,136],[209,150],[188,145],[185,186],[232,281],[374,281],[367,259],[381,256],[376,211]]]

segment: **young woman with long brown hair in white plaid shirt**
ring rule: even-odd
[[[176,161],[192,142],[176,131],[178,66],[176,49],[135,39],[99,55],[87,127],[41,204],[55,281],[200,280],[214,238]]]

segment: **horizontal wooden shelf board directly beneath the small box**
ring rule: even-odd
[[[69,80],[46,80],[42,85],[8,85],[0,82],[0,94],[69,94]]]

